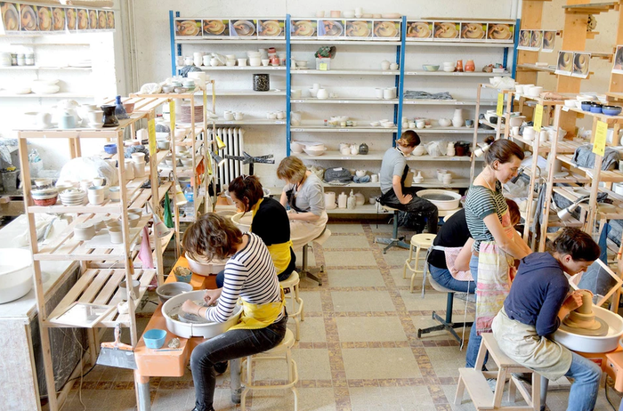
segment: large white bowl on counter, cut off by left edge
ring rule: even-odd
[[[34,272],[29,251],[0,248],[0,304],[28,294]]]

